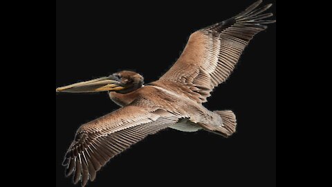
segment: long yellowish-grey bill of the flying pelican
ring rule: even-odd
[[[56,89],[57,92],[68,92],[68,93],[89,93],[98,91],[118,91],[124,89],[120,86],[121,82],[113,76],[98,78],[85,82],[79,82],[71,84],[66,87],[59,87]]]

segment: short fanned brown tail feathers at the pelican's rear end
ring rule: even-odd
[[[223,125],[221,127],[224,127],[227,130],[227,136],[232,135],[237,130],[237,118],[234,114],[234,112],[230,110],[223,110],[223,111],[214,111],[214,113],[219,114],[223,120]]]

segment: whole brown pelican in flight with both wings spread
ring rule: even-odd
[[[75,135],[63,165],[66,176],[85,186],[111,158],[134,143],[167,127],[196,132],[208,130],[231,136],[237,127],[230,110],[210,111],[203,107],[210,93],[234,70],[252,37],[267,28],[271,4],[246,10],[221,23],[190,35],[181,57],[159,80],[144,85],[142,75],[120,71],[66,87],[57,92],[108,91],[120,109],[82,125]]]

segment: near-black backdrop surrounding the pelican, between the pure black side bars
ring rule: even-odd
[[[157,80],[176,61],[190,33],[223,21],[254,1],[139,5],[57,1],[56,87],[123,69]],[[274,3],[275,1],[264,1]],[[275,13],[275,5],[270,9]],[[224,139],[208,132],[165,130],[111,159],[88,186],[194,185],[275,186],[276,26],[257,35],[237,69],[205,104],[232,109],[237,133]],[[80,125],[118,106],[106,93],[57,94],[57,186],[64,177],[64,154]]]

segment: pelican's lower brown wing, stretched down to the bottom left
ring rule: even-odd
[[[138,100],[82,125],[64,158],[66,176],[73,174],[73,182],[81,180],[85,186],[111,158],[180,118],[185,116],[171,114],[148,100]]]

